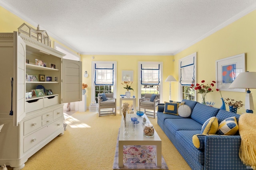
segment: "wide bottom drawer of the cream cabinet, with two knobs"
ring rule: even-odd
[[[36,145],[38,145],[43,140],[47,139],[51,134],[53,134],[55,131],[57,131],[60,128],[63,128],[63,120],[62,119],[58,119],[58,120],[50,123],[48,126],[45,126],[42,129],[39,129],[38,131],[28,135],[27,137],[24,138],[23,152],[25,153],[32,147],[35,147]]]

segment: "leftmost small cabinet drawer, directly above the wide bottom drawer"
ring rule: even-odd
[[[28,133],[39,129],[41,127],[41,122],[41,116],[37,116],[27,121],[24,121],[24,135],[27,135]]]

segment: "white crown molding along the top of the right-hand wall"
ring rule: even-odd
[[[233,23],[234,21],[242,18],[243,16],[246,16],[247,14],[249,14],[250,12],[256,10],[256,4],[253,6],[250,6],[249,8],[247,8],[246,10],[240,12],[239,14],[233,16],[232,18],[230,18],[229,20],[225,21],[224,23],[220,24],[219,26],[215,27],[214,29],[212,29],[211,31],[209,31],[208,33],[204,34],[202,37],[199,37],[198,39],[196,39],[195,41],[189,43],[188,45],[182,47],[181,49],[179,49],[178,51],[176,51],[174,53],[174,55],[180,53],[181,51],[187,49],[188,47],[198,43],[199,41],[205,39],[206,37],[212,35],[213,33],[219,31],[220,29],[228,26],[230,23]]]

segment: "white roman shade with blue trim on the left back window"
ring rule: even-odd
[[[94,64],[94,84],[114,85],[114,64]]]

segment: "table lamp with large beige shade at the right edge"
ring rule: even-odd
[[[256,88],[256,72],[241,72],[229,88],[248,88],[245,96],[246,113],[253,113],[254,104],[250,88]]]

